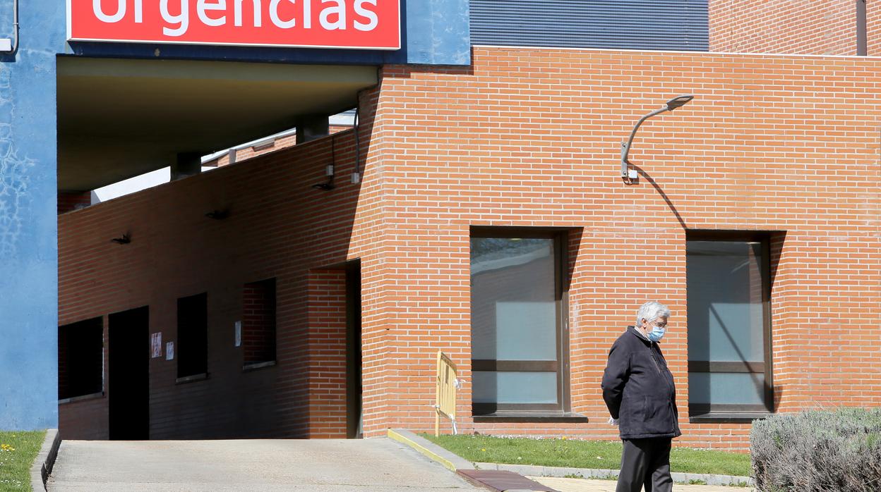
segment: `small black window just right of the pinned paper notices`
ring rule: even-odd
[[[208,294],[177,300],[177,377],[208,373]]]

